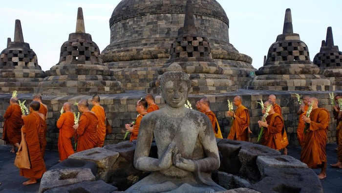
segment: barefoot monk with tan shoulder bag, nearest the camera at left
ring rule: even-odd
[[[39,138],[41,130],[41,117],[38,114],[40,103],[32,101],[30,104],[30,114],[23,116],[22,132],[25,137],[27,149],[29,153],[31,169],[20,169],[20,175],[29,178],[23,182],[23,185],[35,184],[37,179],[43,176],[46,172],[45,163],[42,156],[42,139]]]

